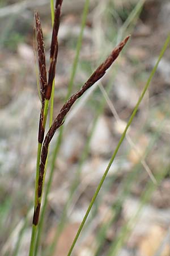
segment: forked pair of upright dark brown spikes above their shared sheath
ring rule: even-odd
[[[40,73],[40,93],[41,93],[41,100],[42,100],[40,121],[39,121],[39,135],[38,135],[39,143],[43,142],[44,133],[45,133],[45,122],[46,122],[46,119],[44,116],[45,100],[50,100],[51,93],[52,93],[53,80],[56,73],[56,62],[57,62],[57,54],[58,54],[57,36],[58,36],[58,28],[59,28],[59,19],[61,15],[61,5],[62,5],[62,0],[57,0],[55,13],[54,13],[52,42],[50,46],[50,67],[49,67],[48,82],[46,78],[44,38],[42,34],[39,14],[37,12],[35,13],[36,32],[37,32],[37,52],[38,52],[39,73]]]

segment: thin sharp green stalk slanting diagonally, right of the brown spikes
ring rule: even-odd
[[[95,203],[96,197],[97,197],[97,195],[99,194],[99,191],[100,191],[100,189],[101,189],[101,186],[102,186],[103,183],[104,183],[105,177],[107,176],[108,171],[109,171],[109,169],[111,168],[111,165],[112,165],[112,163],[113,163],[113,160],[114,160],[114,158],[116,157],[117,152],[118,152],[118,150],[119,150],[119,148],[120,148],[122,142],[124,141],[124,138],[125,138],[125,135],[126,135],[126,133],[127,133],[127,131],[128,131],[128,128],[129,128],[129,126],[131,125],[131,122],[133,121],[133,119],[134,119],[134,117],[135,117],[135,114],[137,113],[139,104],[141,103],[141,101],[143,100],[143,97],[145,96],[145,93],[146,93],[146,91],[147,91],[147,89],[148,89],[148,87],[149,87],[149,85],[150,85],[150,82],[151,82],[151,80],[152,80],[152,77],[154,76],[154,74],[155,74],[155,72],[156,72],[156,69],[157,69],[157,67],[158,67],[158,64],[159,64],[160,60],[162,59],[165,50],[166,50],[167,47],[168,47],[169,41],[170,41],[170,35],[167,37],[167,40],[165,41],[165,44],[164,44],[164,46],[163,46],[163,48],[162,48],[162,51],[160,52],[158,61],[156,62],[154,69],[152,69],[151,75],[150,75],[150,77],[148,78],[148,81],[147,81],[147,83],[146,83],[146,85],[145,85],[145,88],[143,89],[143,92],[142,92],[141,96],[139,97],[139,100],[138,100],[137,105],[135,106],[135,108],[134,108],[134,110],[133,110],[133,113],[131,114],[131,117],[130,117],[130,119],[129,119],[127,125],[126,125],[125,130],[124,130],[124,133],[122,133],[122,136],[121,136],[121,138],[120,138],[120,141],[119,141],[118,144],[117,144],[116,150],[114,151],[114,153],[113,153],[113,155],[112,155],[112,158],[111,158],[111,160],[110,160],[110,162],[109,162],[109,164],[108,164],[108,167],[107,167],[107,169],[105,170],[104,175],[103,175],[103,177],[102,177],[101,180],[100,180],[100,183],[99,183],[99,185],[98,185],[98,187],[97,187],[97,189],[96,189],[96,192],[95,192],[94,196],[92,197],[91,203],[90,203],[90,205],[89,205],[89,207],[88,207],[88,209],[87,209],[87,212],[86,212],[86,214],[85,214],[85,216],[84,216],[84,218],[83,218],[82,223],[81,223],[80,226],[79,226],[78,232],[76,233],[76,236],[75,236],[75,238],[74,238],[74,241],[73,241],[73,243],[72,243],[72,245],[71,245],[71,247],[70,247],[70,250],[69,250],[69,253],[67,254],[67,256],[70,256],[71,253],[72,253],[72,251],[73,251],[73,249],[74,249],[74,246],[75,246],[75,244],[76,244],[76,241],[78,240],[78,237],[79,237],[79,235],[80,235],[80,232],[82,231],[83,226],[84,226],[84,224],[85,224],[85,222],[86,222],[86,220],[87,220],[88,214],[90,213],[91,208],[92,208],[92,206],[93,206],[94,203]]]

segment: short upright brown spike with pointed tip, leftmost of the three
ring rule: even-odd
[[[47,79],[46,79],[44,38],[42,34],[40,17],[38,13],[35,13],[35,21],[36,21],[36,32],[37,32],[37,51],[38,51],[38,59],[39,59],[40,92],[41,92],[41,98],[43,102],[45,98]]]

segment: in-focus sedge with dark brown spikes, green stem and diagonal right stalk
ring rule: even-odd
[[[29,256],[35,255],[35,242],[36,242],[36,234],[37,234],[37,228],[39,224],[39,216],[40,216],[40,208],[41,208],[41,200],[42,200],[42,193],[44,189],[44,181],[45,181],[45,173],[46,173],[46,163],[48,159],[48,151],[49,151],[49,144],[52,141],[52,138],[54,134],[56,133],[56,130],[63,125],[63,122],[65,121],[65,117],[71,107],[73,106],[74,102],[83,95],[84,92],[86,92],[87,89],[91,88],[92,85],[94,85],[97,81],[101,79],[105,75],[105,72],[113,62],[117,59],[118,55],[122,51],[122,48],[124,48],[125,44],[128,42],[128,39],[130,36],[127,36],[124,40],[122,40],[112,51],[112,53],[107,57],[107,59],[102,63],[94,73],[90,76],[90,78],[84,83],[84,85],[76,92],[74,93],[62,106],[59,114],[52,122],[53,118],[53,112],[50,114],[50,128],[48,132],[45,134],[45,126],[46,126],[46,118],[48,115],[48,105],[50,101],[50,97],[53,91],[54,94],[54,77],[56,75],[56,62],[57,62],[57,54],[58,54],[58,29],[59,29],[59,20],[61,15],[61,6],[62,6],[62,0],[56,0],[55,5],[55,11],[54,11],[54,20],[53,22],[53,34],[52,34],[52,42],[50,46],[50,68],[48,72],[48,79],[46,76],[46,62],[45,62],[45,47],[44,47],[44,39],[41,29],[41,23],[40,23],[40,17],[39,14],[35,14],[35,20],[36,20],[36,32],[37,32],[37,52],[38,52],[38,60],[39,60],[39,75],[40,75],[40,96],[41,96],[41,113],[40,113],[40,122],[39,122],[39,135],[38,135],[38,150],[37,150],[37,168],[36,168],[36,184],[35,184],[35,206],[34,206],[34,213],[33,213],[33,221],[32,221],[32,236],[31,236],[31,245],[29,249]],[[143,97],[145,96],[146,90],[148,89],[148,86],[150,85],[150,81],[152,79],[152,76],[154,76],[154,73],[156,71],[156,68],[158,67],[160,59],[162,59],[162,56],[164,54],[165,49],[167,48],[169,44],[170,36],[168,36],[165,45],[162,49],[162,52],[160,53],[159,59],[151,72],[150,78],[148,79],[148,82],[143,89],[143,92],[141,94],[141,97],[139,98],[137,105],[135,106],[135,109],[133,113],[131,114],[131,117],[129,119],[129,122],[125,128],[124,133],[121,136],[120,141],[117,144],[116,150],[114,151],[112,158],[108,164],[107,170],[105,170],[104,175],[96,189],[96,192],[94,196],[92,197],[91,203],[87,209],[87,212],[83,218],[82,224],[80,225],[80,228],[78,229],[78,233],[75,236],[75,239],[73,241],[73,244],[70,247],[68,256],[71,255],[75,243],[78,240],[78,237],[80,235],[80,232],[83,229],[83,226],[87,220],[88,214],[91,211],[92,206],[94,205],[94,202],[96,200],[96,197],[100,191],[101,186],[104,183],[105,177],[108,174],[109,168],[111,167],[111,164],[122,144],[122,141],[124,141],[126,132],[133,121],[133,118],[138,110],[138,106],[141,103]],[[53,100],[52,100],[53,104]],[[53,109],[53,107],[52,107]]]

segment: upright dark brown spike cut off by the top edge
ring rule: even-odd
[[[46,100],[50,99],[50,96],[52,93],[52,84],[53,84],[53,80],[56,73],[56,62],[57,62],[57,54],[58,54],[58,28],[59,28],[59,21],[60,21],[60,15],[61,15],[61,5],[62,5],[62,0],[57,0],[55,13],[54,13],[52,42],[50,46],[50,68],[49,68],[49,76],[48,76],[48,86],[45,93]]]

